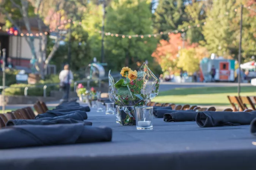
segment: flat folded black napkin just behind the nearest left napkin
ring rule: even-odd
[[[14,119],[9,120],[6,123],[6,126],[13,125],[54,125],[54,124],[75,124],[83,123],[84,125],[92,125],[92,122],[77,121],[74,119],[53,119],[53,120],[44,120],[44,119]]]

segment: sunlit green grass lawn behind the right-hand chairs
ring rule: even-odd
[[[237,87],[175,88],[162,91],[154,102],[195,105],[230,105],[227,96],[237,96]],[[240,96],[256,96],[256,87],[241,87]]]

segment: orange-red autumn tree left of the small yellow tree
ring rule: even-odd
[[[152,57],[155,57],[162,71],[175,71],[178,69],[179,50],[183,45],[184,48],[194,48],[197,46],[196,43],[190,44],[185,40],[183,41],[180,33],[170,34],[168,41],[160,40],[154,53],[152,53]]]

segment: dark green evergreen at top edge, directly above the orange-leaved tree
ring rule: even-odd
[[[154,31],[156,33],[173,31],[178,29],[182,22],[188,21],[185,15],[186,0],[159,0],[157,9],[154,12]],[[168,40],[168,35],[162,35],[164,40]]]

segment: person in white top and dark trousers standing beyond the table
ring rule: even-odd
[[[64,65],[64,70],[60,72],[60,88],[63,90],[63,97],[61,101],[68,101],[70,84],[74,79],[72,71],[69,70],[69,65]]]

